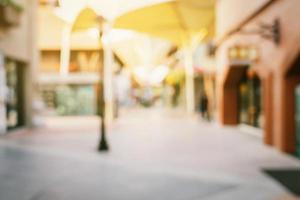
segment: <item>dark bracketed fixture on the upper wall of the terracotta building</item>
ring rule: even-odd
[[[262,38],[273,41],[276,45],[280,44],[281,41],[281,31],[280,31],[280,21],[276,18],[271,24],[260,23],[258,29],[255,30],[238,30],[240,34],[258,34]]]

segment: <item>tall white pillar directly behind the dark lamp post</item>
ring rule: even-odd
[[[114,55],[109,41],[108,34],[111,26],[105,24],[102,37],[103,53],[104,53],[104,100],[105,100],[105,116],[107,122],[112,122],[114,118],[114,84],[113,84],[113,73],[114,73]]]

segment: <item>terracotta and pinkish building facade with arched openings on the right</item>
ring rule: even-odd
[[[299,9],[298,0],[221,0],[217,5],[220,122],[261,128],[264,143],[288,153],[300,149]]]

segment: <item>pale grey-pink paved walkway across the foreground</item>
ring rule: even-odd
[[[235,128],[163,110],[128,110],[96,152],[96,117],[53,118],[0,140],[0,200],[276,200],[262,169],[300,160]]]

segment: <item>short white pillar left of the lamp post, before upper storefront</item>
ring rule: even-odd
[[[72,27],[66,24],[62,31],[61,52],[60,52],[60,75],[67,76],[69,73],[71,54],[71,32]]]

